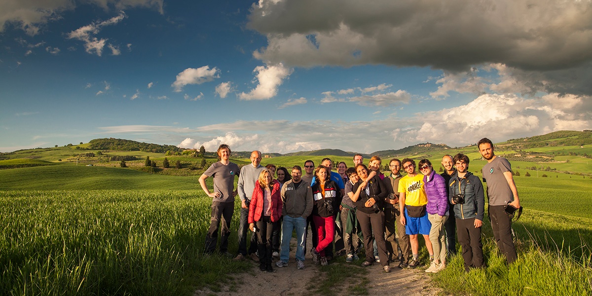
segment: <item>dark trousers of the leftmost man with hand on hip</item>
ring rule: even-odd
[[[218,229],[221,228],[220,253],[228,250],[228,238],[230,237],[230,221],[234,214],[234,202],[214,202],[212,204],[212,215],[210,228],[205,234],[205,253],[213,253],[218,240]]]

